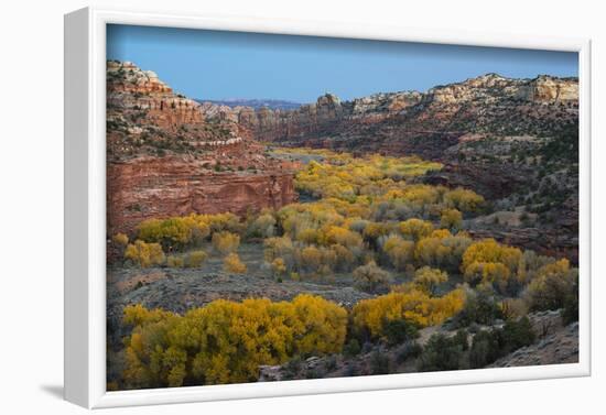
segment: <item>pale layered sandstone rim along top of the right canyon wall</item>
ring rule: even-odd
[[[424,139],[434,133],[462,135],[475,129],[498,132],[504,114],[527,118],[522,127],[530,130],[530,124],[554,112],[551,107],[556,109],[565,105],[570,117],[576,117],[577,101],[576,78],[542,75],[533,79],[515,79],[487,74],[436,86],[426,92],[376,94],[351,101],[340,101],[326,94],[316,102],[294,110],[230,108],[205,102],[202,112],[207,119],[245,125],[259,140],[307,144],[311,141],[322,145],[326,140],[334,140],[337,146],[343,138],[351,146],[375,140],[377,131],[365,125],[377,124],[381,130],[378,135],[383,136],[380,141],[386,144],[380,150],[397,150],[398,144],[389,143],[393,138],[402,143],[408,138]],[[550,108],[541,108],[544,106]],[[570,117],[566,114],[561,121]],[[334,142],[328,144],[335,146]]]

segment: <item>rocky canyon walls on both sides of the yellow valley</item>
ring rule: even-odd
[[[527,229],[516,233],[524,238],[502,233],[504,240],[542,252],[574,250],[577,179],[553,178],[554,186],[543,176],[577,176],[577,123],[576,78],[487,74],[426,92],[350,101],[325,94],[284,110],[197,102],[152,72],[108,62],[108,232],[131,232],[149,218],[244,215],[295,201],[295,166],[260,144],[277,142],[437,160],[444,168],[426,183],[469,187],[507,209],[541,208],[544,220],[534,229],[545,238]],[[545,168],[547,159],[555,168]]]

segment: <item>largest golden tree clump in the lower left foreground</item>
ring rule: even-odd
[[[347,312],[321,297],[292,302],[218,299],[184,316],[125,309],[128,387],[166,387],[256,381],[259,365],[294,356],[339,352]]]

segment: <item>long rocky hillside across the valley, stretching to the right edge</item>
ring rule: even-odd
[[[518,212],[522,219],[515,227],[499,222],[501,214],[480,220],[483,226],[472,229],[479,237],[577,258],[576,78],[487,74],[426,92],[351,101],[327,94],[290,111],[209,102],[202,111],[207,120],[245,127],[260,141],[440,161],[444,168],[422,181],[473,188],[495,212]]]

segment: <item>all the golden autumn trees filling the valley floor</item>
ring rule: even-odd
[[[247,261],[262,243],[264,264],[250,265],[255,276],[267,273],[279,282],[290,277],[283,290],[305,279],[317,279],[318,284],[334,281],[339,290],[353,280],[355,288],[377,296],[359,301],[349,314],[312,295],[292,302],[218,299],[185,315],[126,307],[126,369],[119,385],[257,381],[261,364],[340,353],[346,336],[376,341],[402,327],[416,330],[442,324],[464,308],[477,312],[484,304],[476,299],[479,306],[470,307],[474,296],[488,292],[500,317],[510,318],[528,309],[563,308],[575,293],[577,270],[566,260],[522,252],[494,239],[474,241],[462,231],[463,217],[483,215],[485,199],[472,190],[412,179],[441,168],[437,163],[354,157],[327,150],[279,151],[317,156],[296,174],[295,186],[320,199],[279,210],[250,210],[245,218],[193,214],[150,219],[137,228],[134,242],[116,234],[113,243],[126,247],[125,258],[142,267],[164,262],[171,267],[199,267],[207,258],[203,249],[208,249],[212,255],[225,255],[225,272],[238,274],[247,272],[237,253],[240,243]],[[441,295],[451,290],[448,275],[466,284]],[[393,285],[394,277],[412,281]]]

